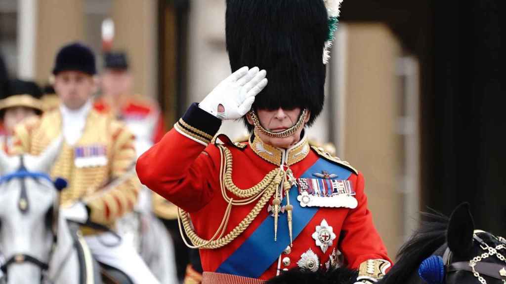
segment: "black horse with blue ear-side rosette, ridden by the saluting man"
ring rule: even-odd
[[[400,249],[381,284],[498,284],[506,283],[506,240],[475,230],[469,204],[459,205],[448,218],[433,211]],[[356,271],[315,273],[290,270],[269,284],[353,284]],[[378,284],[379,284],[378,283]]]

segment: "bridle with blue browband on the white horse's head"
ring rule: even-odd
[[[41,179],[48,180],[51,183],[53,183],[53,180],[46,173],[27,171],[24,164],[23,164],[23,156],[20,156],[20,157],[21,157],[20,168],[16,172],[2,176],[0,178],[0,184],[2,184],[4,182],[8,182],[13,178],[22,179],[21,194],[20,194],[20,198],[18,201],[18,207],[22,213],[26,213],[28,211],[29,205],[28,205],[28,199],[27,199],[27,193],[26,193],[26,185],[24,182],[25,178],[33,178],[33,179],[41,178]],[[58,210],[59,210],[59,199],[58,199],[58,202],[56,202],[56,203],[57,204],[55,205],[55,207],[53,207],[53,210],[54,210],[53,213],[58,212]],[[55,224],[55,222],[57,222],[57,220],[58,220],[57,216],[55,217],[55,214],[53,214],[53,220],[52,220],[52,226],[51,226],[51,232],[53,234],[53,244],[51,246],[51,251],[49,254],[50,260],[54,254],[57,239],[58,239],[58,232],[57,232],[58,226]],[[19,254],[14,254],[12,257],[10,257],[2,266],[0,266],[0,270],[2,270],[2,272],[4,272],[5,277],[8,277],[9,275],[7,274],[7,270],[9,268],[9,266],[12,264],[21,264],[21,263],[31,263],[31,264],[37,266],[38,268],[40,268],[40,270],[43,272],[43,273],[41,273],[41,277],[44,277],[44,274],[45,274],[44,272],[48,271],[48,269],[49,269],[48,263],[40,261],[39,259],[37,259],[31,255],[19,253]]]

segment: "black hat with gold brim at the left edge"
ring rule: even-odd
[[[35,82],[23,80],[9,80],[6,84],[6,94],[0,98],[0,117],[8,108],[26,107],[34,109],[37,114],[42,112],[40,97],[42,91]]]

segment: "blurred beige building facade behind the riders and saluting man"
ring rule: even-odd
[[[231,72],[224,0],[2,0],[0,13],[11,74],[39,83],[67,42],[91,45],[101,61],[101,26],[112,19],[113,49],[129,54],[136,92],[160,102],[167,125]],[[343,21],[327,74],[325,110],[310,138],[333,143],[364,173],[369,208],[393,256],[421,204],[418,62],[385,23]],[[240,122],[221,131],[246,134]]]

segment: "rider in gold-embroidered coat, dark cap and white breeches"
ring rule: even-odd
[[[39,119],[15,129],[14,153],[39,155],[63,135],[64,143],[51,175],[67,179],[61,194],[67,220],[109,228],[81,231],[94,257],[116,268],[134,283],[158,283],[132,244],[112,232],[116,220],[137,203],[139,184],[132,166],[134,135],[120,122],[93,109],[98,82],[95,55],[88,46],[72,43],[58,52],[54,88],[61,104]]]

